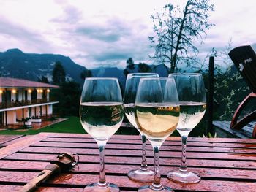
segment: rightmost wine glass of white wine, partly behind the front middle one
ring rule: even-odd
[[[181,135],[182,155],[181,166],[178,170],[167,173],[170,180],[181,183],[197,183],[200,176],[187,171],[186,145],[189,132],[197,126],[206,112],[206,91],[203,77],[197,73],[170,74],[176,81],[178,99],[180,104],[180,119],[177,130]]]

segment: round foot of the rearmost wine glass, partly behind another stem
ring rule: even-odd
[[[154,180],[154,172],[149,169],[146,169],[146,170],[137,169],[137,170],[129,171],[128,177],[130,180],[147,183],[147,182],[152,182]]]

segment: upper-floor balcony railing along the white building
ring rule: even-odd
[[[34,100],[23,100],[23,101],[7,101],[0,102],[0,109],[7,109],[12,107],[22,107],[31,104],[44,104],[49,102],[54,102],[56,100],[53,99],[34,99]]]

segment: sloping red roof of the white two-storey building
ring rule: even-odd
[[[21,80],[10,77],[0,77],[0,88],[59,88],[57,85],[50,85],[44,82]]]

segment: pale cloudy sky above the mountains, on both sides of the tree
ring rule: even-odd
[[[150,16],[167,3],[184,0],[0,0],[0,52],[19,48],[24,53],[66,55],[94,69],[151,63]],[[217,50],[232,38],[233,46],[256,43],[255,0],[211,0],[215,11],[200,55]]]

